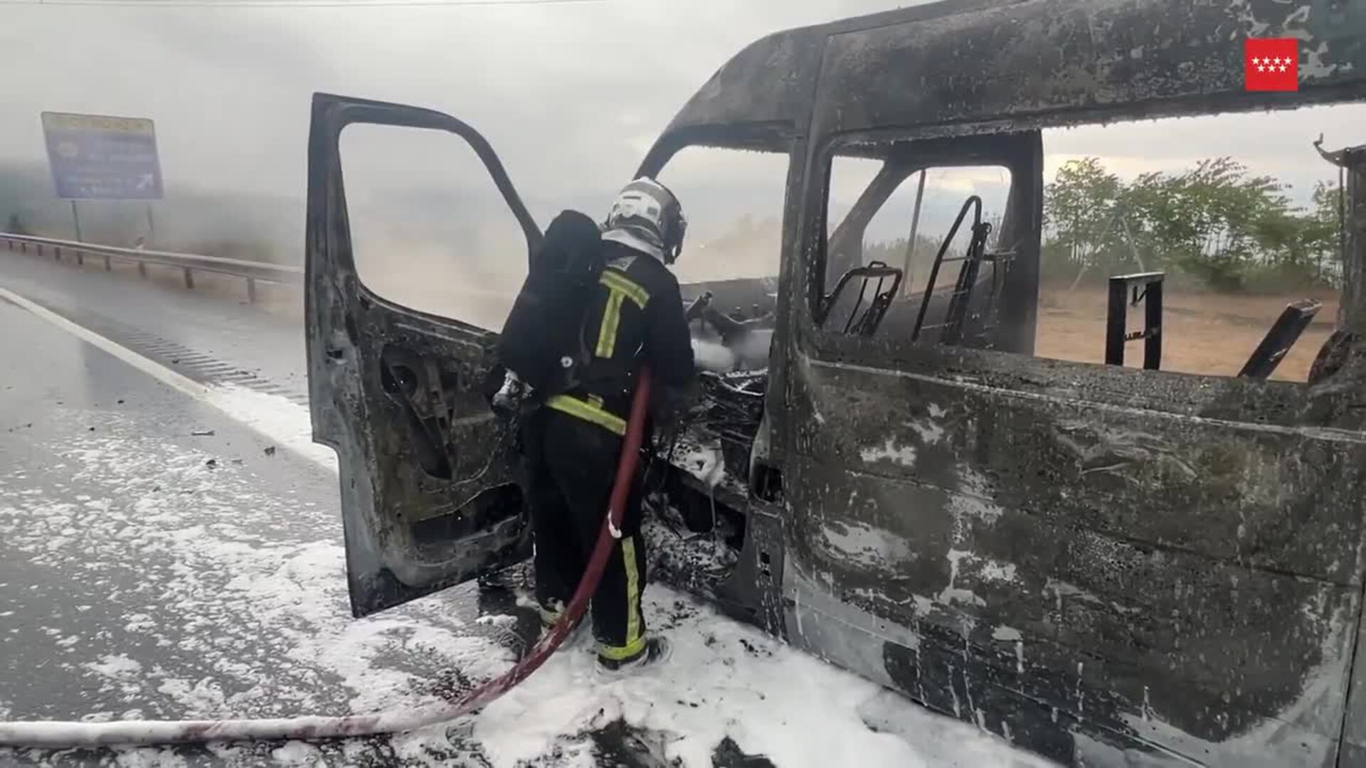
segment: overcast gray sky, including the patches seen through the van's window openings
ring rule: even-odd
[[[533,212],[601,210],[678,108],[747,42],[779,29],[892,8],[895,0],[602,0],[503,7],[138,7],[0,4],[0,51],[11,64],[0,111],[0,161],[45,163],[38,113],[156,120],[168,198],[178,190],[302,198],[309,100],[328,90],[436,108],[481,130]],[[1087,127],[1045,134],[1048,172],[1098,154],[1121,175],[1175,171],[1231,154],[1307,197],[1332,176],[1309,142],[1366,139],[1366,108],[1307,109]],[[382,133],[382,130],[381,130]],[[350,139],[343,137],[343,148]],[[426,139],[354,142],[348,194],[363,202],[389,187],[467,194],[481,172],[434,159]],[[447,142],[454,145],[455,139]],[[781,164],[731,160],[665,169],[698,230],[746,210],[729,200],[753,182],[781,205]],[[755,180],[758,169],[769,169]],[[978,179],[990,184],[990,179]],[[932,186],[934,186],[932,179]],[[724,194],[708,191],[708,184]],[[945,179],[955,209],[973,189]],[[978,187],[979,190],[982,187]],[[836,186],[833,205],[856,189]],[[55,202],[55,201],[53,201]],[[96,205],[96,204],[92,204]],[[712,206],[713,210],[708,210]],[[449,210],[437,201],[433,210]],[[291,213],[298,216],[298,213]],[[899,231],[899,224],[892,221]],[[294,230],[290,224],[287,230]],[[392,228],[392,227],[391,227]],[[302,235],[302,221],[299,223]],[[388,236],[380,234],[378,236]],[[291,247],[294,242],[292,236]]]

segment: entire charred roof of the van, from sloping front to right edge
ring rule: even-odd
[[[1246,37],[1299,40],[1298,93],[1244,89]],[[743,146],[809,116],[816,135],[963,133],[1358,100],[1366,1],[945,0],[766,36],[667,135]]]

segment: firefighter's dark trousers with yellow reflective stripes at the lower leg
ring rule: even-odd
[[[535,534],[535,596],[542,611],[568,604],[583,578],[607,518],[616,480],[622,437],[601,425],[541,409],[523,435],[527,503]],[[613,543],[593,593],[593,635],[598,655],[630,659],[645,649],[645,543],[641,541],[641,493],[632,485]]]

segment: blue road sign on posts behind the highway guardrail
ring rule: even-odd
[[[44,112],[42,134],[57,197],[161,200],[152,120]]]

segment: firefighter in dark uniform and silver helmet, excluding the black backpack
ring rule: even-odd
[[[679,284],[668,265],[687,228],[678,198],[658,182],[627,184],[602,224],[602,266],[583,294],[574,373],[527,421],[526,481],[535,533],[535,594],[541,619],[559,619],[574,594],[598,534],[616,478],[635,373],[649,365],[652,421],[672,418],[691,396],[693,344]],[[593,634],[607,671],[663,659],[664,638],[646,634],[641,612],[645,543],[641,493],[632,489],[622,537],[593,594]]]

